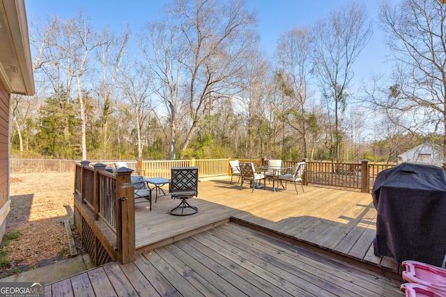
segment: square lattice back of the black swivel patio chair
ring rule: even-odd
[[[198,167],[172,167],[169,192],[198,195]]]

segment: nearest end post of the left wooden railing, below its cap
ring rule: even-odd
[[[132,184],[121,184],[118,200],[121,201],[121,262],[127,264],[136,259],[136,239],[134,230],[134,188]]]

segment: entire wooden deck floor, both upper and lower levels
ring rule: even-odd
[[[47,285],[45,296],[402,295],[399,266],[373,253],[370,194],[268,184],[251,193],[229,181],[201,181],[193,216],[169,215],[169,195],[152,211],[137,203],[137,260]]]

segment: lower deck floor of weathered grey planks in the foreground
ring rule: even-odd
[[[45,287],[45,296],[401,296],[401,281],[226,223]]]

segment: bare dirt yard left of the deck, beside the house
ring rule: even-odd
[[[64,220],[69,220],[77,242],[77,252],[85,253],[74,227],[74,172],[11,173],[10,212],[6,233],[22,232],[8,248],[10,268],[43,266],[70,256]]]

